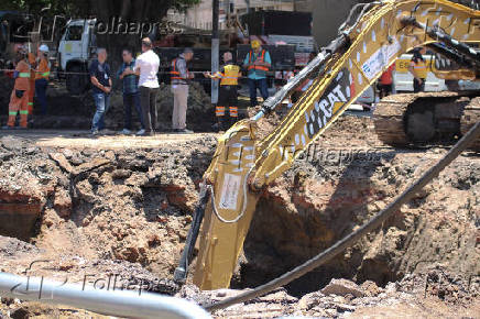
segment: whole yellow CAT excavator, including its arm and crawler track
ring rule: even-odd
[[[452,69],[444,70],[444,78],[478,78],[477,6],[477,1],[384,0],[353,7],[328,47],[264,101],[255,116],[236,123],[219,138],[204,175],[175,279],[185,282],[200,234],[194,284],[204,290],[228,287],[262,189],[288,169],[403,53],[429,46],[456,62]],[[312,86],[274,129],[259,131],[258,123],[275,113],[306,78],[314,78]],[[445,134],[461,135],[480,121],[480,109],[471,102],[477,95],[462,91],[386,97],[374,114],[379,138],[405,146],[432,144]]]

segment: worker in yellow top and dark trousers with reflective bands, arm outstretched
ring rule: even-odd
[[[215,75],[206,73],[206,77],[220,79],[218,103],[215,111],[218,120],[218,130],[227,131],[238,119],[238,78],[241,76],[240,67],[233,64],[230,52],[223,53],[225,65]],[[226,108],[229,108],[228,123],[226,121]]]

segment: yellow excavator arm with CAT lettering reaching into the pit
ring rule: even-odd
[[[194,283],[201,289],[229,286],[262,189],[288,169],[400,55],[441,41],[478,63],[477,53],[457,40],[480,41],[479,24],[480,11],[447,0],[388,0],[356,7],[329,47],[268,99],[257,116],[219,139],[201,186],[205,220]],[[280,124],[259,139],[258,121],[313,75],[312,86]],[[203,211],[194,219],[175,272],[177,280],[185,279],[192,260],[201,222],[197,216]]]

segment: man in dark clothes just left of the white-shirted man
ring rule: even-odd
[[[123,80],[123,107],[124,107],[124,127],[121,134],[130,135],[132,133],[132,107],[139,114],[142,129],[137,132],[138,135],[145,133],[143,123],[142,108],[140,106],[139,76],[135,75],[135,59],[129,48],[122,52],[123,64],[119,68],[117,76]]]

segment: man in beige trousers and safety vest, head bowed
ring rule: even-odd
[[[187,62],[192,58],[194,58],[194,52],[187,47],[177,58],[172,61],[172,70],[170,73],[174,97],[172,129],[176,133],[193,133],[186,128],[188,80],[195,77],[187,68]]]

